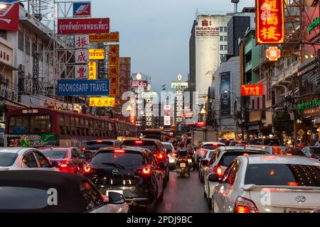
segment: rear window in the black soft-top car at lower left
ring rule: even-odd
[[[47,190],[0,186],[0,210],[43,209],[46,206]]]

